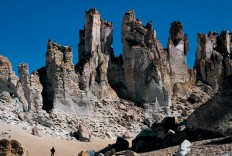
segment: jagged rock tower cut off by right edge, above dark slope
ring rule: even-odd
[[[198,48],[195,68],[197,80],[209,84],[217,91],[223,81],[232,73],[231,33],[222,31],[198,34]]]

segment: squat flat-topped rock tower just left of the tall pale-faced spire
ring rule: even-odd
[[[78,76],[72,63],[72,48],[48,41],[46,53],[46,70],[40,69],[42,80],[44,109],[59,108],[66,111],[75,110],[81,99]]]

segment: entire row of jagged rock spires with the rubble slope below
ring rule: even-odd
[[[38,124],[45,127],[41,133],[69,140],[75,138],[66,134],[76,132],[80,123],[86,125],[87,136],[114,138],[125,134],[130,138],[167,116],[176,117],[172,123],[187,119],[212,97],[214,89],[218,94],[194,112],[189,122],[197,128],[231,134],[231,33],[198,34],[195,69],[191,70],[186,64],[187,35],[179,21],[171,24],[168,48],[164,49],[152,22],[143,26],[134,11],[127,11],[122,23],[123,54],[119,57],[114,56],[112,32],[113,24],[102,20],[93,8],[86,11],[84,30],[79,31],[75,67],[72,48],[51,40],[46,66],[30,75],[28,65],[21,63],[19,79],[9,60],[0,56],[0,120],[21,127]],[[200,81],[195,84],[196,80]],[[187,133],[190,141],[194,140],[191,137],[196,131],[180,126],[183,132],[168,126],[145,130],[156,139],[146,150],[179,144]],[[142,142],[147,145],[146,135],[137,138],[138,142],[144,138]]]

